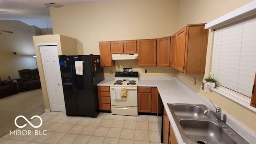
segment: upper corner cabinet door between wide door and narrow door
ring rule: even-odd
[[[170,37],[157,39],[157,66],[170,67]]]

